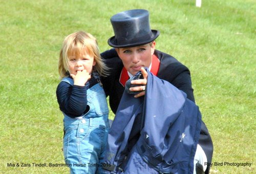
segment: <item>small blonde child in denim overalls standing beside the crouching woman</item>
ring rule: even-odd
[[[71,173],[100,173],[109,132],[108,104],[99,80],[106,74],[96,39],[76,32],[63,41],[56,91],[64,115],[63,153]]]

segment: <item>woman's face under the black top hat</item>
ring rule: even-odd
[[[135,75],[141,67],[150,67],[152,55],[155,51],[156,42],[137,47],[117,48],[118,56],[123,62],[124,68]]]

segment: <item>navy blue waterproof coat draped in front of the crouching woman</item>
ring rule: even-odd
[[[147,70],[144,97],[123,93],[112,124],[105,173],[193,173],[198,106]]]

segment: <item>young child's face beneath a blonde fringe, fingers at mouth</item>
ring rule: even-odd
[[[73,54],[68,58],[69,72],[70,74],[77,74],[77,71],[86,70],[90,74],[92,73],[93,66],[95,66],[96,61],[94,57],[86,53],[86,49],[83,49],[80,55]]]

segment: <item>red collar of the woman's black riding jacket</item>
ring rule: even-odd
[[[156,55],[153,54],[152,56],[152,67],[150,72],[152,72],[155,76],[157,76],[158,74],[158,70],[159,70],[159,66],[160,66],[160,61],[157,58]],[[123,67],[121,74],[120,74],[120,78],[119,78],[119,82],[124,86],[125,82],[129,79],[129,75],[127,70]]]

